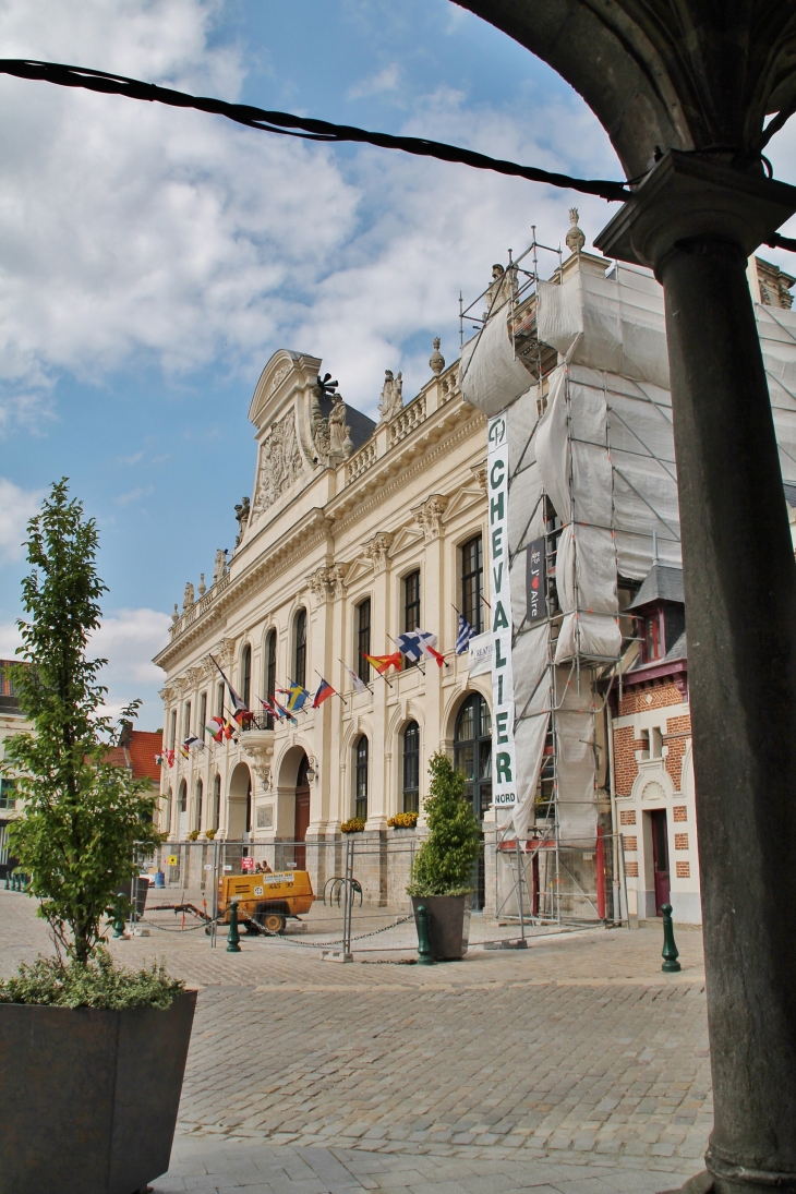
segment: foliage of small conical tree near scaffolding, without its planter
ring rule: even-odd
[[[431,786],[424,801],[428,837],[418,850],[407,887],[409,896],[459,896],[473,891],[479,855],[479,823],[464,795],[464,776],[444,751],[428,763]]]

